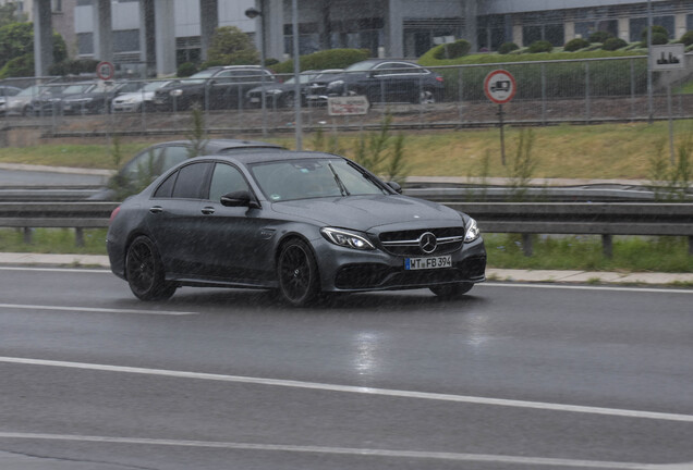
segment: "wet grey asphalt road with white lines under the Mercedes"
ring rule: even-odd
[[[692,305],[490,283],[144,304],[106,271],[3,267],[0,468],[691,469]]]

